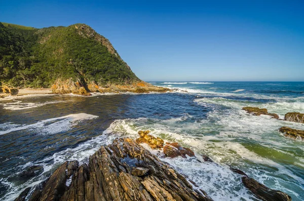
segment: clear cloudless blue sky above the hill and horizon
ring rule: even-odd
[[[86,23],[144,81],[304,81],[301,0],[1,1],[0,21]]]

